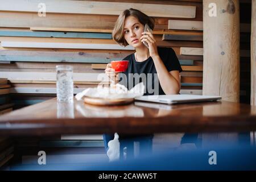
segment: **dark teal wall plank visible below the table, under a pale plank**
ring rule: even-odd
[[[103,140],[41,141],[40,147],[104,147]]]

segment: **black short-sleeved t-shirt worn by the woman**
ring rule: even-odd
[[[166,66],[168,72],[182,71],[174,49],[158,47],[158,54]],[[123,60],[129,60],[129,66],[125,72],[125,75],[119,75],[121,77],[121,84],[125,85],[130,90],[139,82],[143,82],[146,88],[144,96],[165,94],[159,83],[152,57],[148,57],[147,60],[142,62],[137,62],[135,60],[134,53],[132,53],[131,55],[125,57]]]

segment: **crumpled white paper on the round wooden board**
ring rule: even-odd
[[[143,82],[135,85],[134,88],[127,90],[127,88],[121,84],[110,84],[109,88],[99,85],[97,88],[88,88],[84,91],[76,94],[76,100],[81,100],[82,97],[93,97],[93,98],[107,98],[107,99],[118,99],[118,98],[135,98],[143,96],[144,94]]]

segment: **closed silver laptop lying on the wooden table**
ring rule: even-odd
[[[206,102],[221,100],[220,96],[201,96],[190,94],[176,94],[176,95],[155,95],[155,96],[141,96],[136,97],[137,101],[157,102],[162,104],[180,104],[191,102]]]

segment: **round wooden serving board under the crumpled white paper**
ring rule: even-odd
[[[86,104],[98,105],[98,106],[114,106],[114,105],[127,105],[134,102],[134,98],[122,98],[122,99],[105,99],[105,98],[92,98],[84,97]]]

